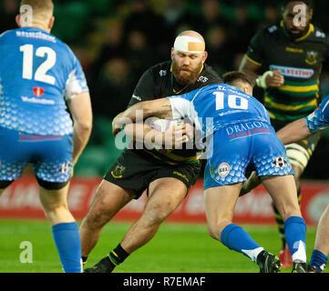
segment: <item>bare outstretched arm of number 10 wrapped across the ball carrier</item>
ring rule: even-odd
[[[159,98],[151,101],[139,102],[130,106],[126,111],[119,113],[112,123],[113,135],[117,135],[121,125],[142,122],[149,116],[157,116],[159,118],[172,117],[170,100],[168,98]],[[140,120],[138,120],[140,118]]]

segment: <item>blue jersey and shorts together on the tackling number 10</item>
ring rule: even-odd
[[[207,144],[204,188],[242,183],[246,169],[258,176],[293,175],[270,115],[252,95],[231,85],[208,85],[170,97],[174,118],[190,117]],[[198,142],[198,141],[197,141]]]

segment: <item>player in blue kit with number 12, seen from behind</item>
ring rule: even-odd
[[[53,10],[51,0],[23,0],[20,28],[0,35],[0,194],[32,164],[63,270],[80,273],[80,236],[67,189],[92,112],[76,55],[50,34]]]

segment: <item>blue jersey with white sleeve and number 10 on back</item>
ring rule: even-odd
[[[169,98],[173,118],[190,117],[203,138],[226,125],[249,121],[270,124],[270,115],[262,103],[231,85],[208,85]]]

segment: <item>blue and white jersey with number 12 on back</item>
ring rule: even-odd
[[[72,134],[65,98],[88,90],[76,55],[54,35],[23,27],[0,35],[0,126]]]

